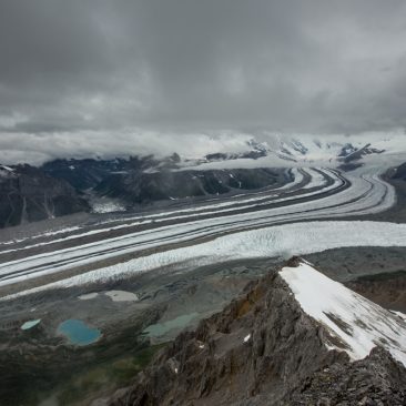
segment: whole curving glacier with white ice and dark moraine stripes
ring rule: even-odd
[[[4,242],[0,246],[0,286],[58,274],[60,281],[42,290],[125,277],[161,266],[179,268],[341,246],[406,245],[404,225],[332,221],[375,214],[394,205],[395,190],[379,177],[379,169],[288,171],[293,180],[281,187],[105,220],[83,229],[48,231],[22,240],[17,247]],[[329,221],[319,222],[323,219]],[[126,233],[115,233],[126,229]],[[78,238],[87,240],[78,244]],[[151,250],[159,253],[150,255]],[[129,254],[133,260],[123,262]],[[100,267],[100,262],[111,263],[112,258],[114,265]],[[78,267],[81,275],[64,277]]]

